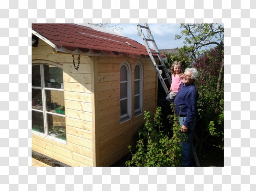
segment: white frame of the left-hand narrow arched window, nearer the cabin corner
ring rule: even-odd
[[[126,67],[126,75],[127,75],[127,80],[121,81],[119,79],[119,106],[120,106],[120,123],[123,123],[129,119],[131,119],[131,67],[130,63],[125,60],[120,64],[119,68],[119,74],[121,74],[121,68],[122,66]],[[121,84],[122,83],[127,83],[127,97],[121,99]],[[127,114],[121,115],[121,101],[127,99]]]

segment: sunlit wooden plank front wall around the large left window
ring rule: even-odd
[[[77,66],[78,55],[74,56]],[[63,144],[32,133],[32,150],[69,166],[95,166],[92,141],[93,60],[81,55],[80,67],[76,71],[72,54],[56,53],[39,39],[38,46],[32,47],[32,63],[51,62],[58,63],[63,69],[67,142]]]

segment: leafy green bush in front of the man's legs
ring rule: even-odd
[[[171,105],[173,107],[173,105]],[[181,166],[181,142],[185,134],[180,132],[179,117],[169,115],[173,136],[163,132],[161,107],[157,107],[154,123],[151,122],[150,112],[144,111],[145,123],[139,128],[136,153],[126,161],[126,166]],[[132,146],[128,146],[132,152]]]

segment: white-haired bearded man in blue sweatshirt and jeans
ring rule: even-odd
[[[196,124],[196,104],[198,99],[198,93],[194,84],[197,75],[198,72],[195,68],[187,68],[185,70],[180,90],[174,100],[176,114],[180,115],[181,133],[188,135],[187,141],[181,144],[183,166],[190,166],[191,164],[191,148]]]

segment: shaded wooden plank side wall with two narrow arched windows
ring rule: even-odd
[[[120,64],[127,60],[131,66],[131,119],[120,123],[119,86]],[[134,117],[134,67],[139,59],[125,57],[99,57],[97,60],[97,145],[99,166],[110,166],[129,153],[128,145],[134,145],[133,135],[144,123],[144,114]],[[155,113],[157,97],[157,75],[151,60],[140,60],[143,66],[142,111]]]

